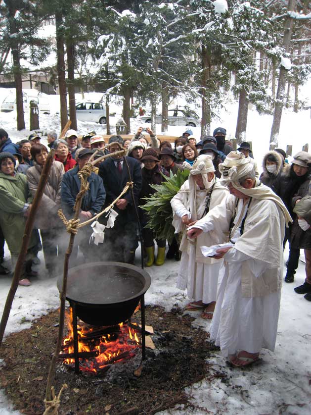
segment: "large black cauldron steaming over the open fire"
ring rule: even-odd
[[[57,279],[62,289],[63,276]],[[68,270],[66,299],[77,316],[94,326],[126,321],[148,290],[146,271],[122,262],[91,262]]]

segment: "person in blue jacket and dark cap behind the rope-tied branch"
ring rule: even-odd
[[[71,219],[74,216],[74,206],[76,203],[76,197],[80,192],[81,181],[78,176],[79,170],[89,161],[90,156],[94,153],[94,150],[83,149],[77,157],[77,165],[68,170],[63,175],[61,185],[61,207],[67,219]],[[89,189],[85,193],[81,209],[80,209],[80,222],[85,222],[91,219],[95,214],[102,210],[103,204],[106,199],[106,191],[102,182],[102,179],[96,174],[91,173],[88,178]],[[77,253],[77,246],[84,255],[85,262],[92,262],[100,260],[102,250],[99,249],[99,245],[89,244],[89,238],[92,234],[92,228],[90,225],[86,225],[78,230],[75,238],[75,246]]]

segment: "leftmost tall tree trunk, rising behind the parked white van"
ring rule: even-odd
[[[8,8],[8,21],[9,21],[9,37],[10,37],[10,47],[12,51],[13,59],[13,72],[14,72],[14,82],[16,90],[16,113],[17,113],[17,130],[25,129],[25,119],[24,119],[24,107],[23,107],[23,86],[22,86],[22,74],[20,67],[20,51],[18,43],[18,31],[15,21],[15,13],[17,11],[13,1],[5,1]]]

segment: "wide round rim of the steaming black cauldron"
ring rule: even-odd
[[[79,300],[75,300],[74,298],[68,297],[68,293],[66,292],[66,300],[68,300],[69,302],[74,302],[76,304],[81,304],[82,306],[87,306],[87,307],[100,307],[100,306],[112,306],[114,304],[121,304],[121,303],[127,303],[131,300],[134,300],[136,298],[141,297],[143,294],[145,294],[145,292],[149,289],[150,285],[151,285],[151,278],[150,275],[142,268],[138,268],[135,265],[132,264],[128,264],[125,262],[114,262],[114,261],[97,261],[97,262],[88,262],[82,265],[78,265],[75,266],[73,268],[69,268],[68,269],[68,280],[67,280],[67,291],[68,291],[68,282],[69,282],[69,278],[70,278],[70,274],[79,270],[83,270],[85,268],[89,268],[90,265],[92,266],[117,266],[117,267],[125,267],[128,269],[131,269],[137,273],[139,273],[145,280],[144,286],[143,288],[136,294],[134,294],[131,297],[128,297],[126,299],[121,299],[120,301],[111,301],[111,302],[105,302],[105,303],[86,303],[86,302],[82,302]],[[58,291],[61,293],[62,290],[62,285],[63,285],[63,275],[59,275],[57,278],[57,288]]]

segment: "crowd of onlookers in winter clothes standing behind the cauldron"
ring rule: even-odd
[[[80,190],[79,170],[97,151],[95,158],[120,150],[119,144],[126,150],[126,156],[114,155],[93,166],[88,178],[89,189],[83,198],[80,219],[92,218],[103,208],[109,206],[122,192],[126,184],[133,181],[132,192],[127,192],[114,206],[118,213],[113,227],[105,229],[104,244],[89,244],[92,234],[90,226],[79,230],[73,252],[76,258],[80,251],[86,261],[117,260],[133,263],[138,247],[138,219],[142,226],[145,264],[162,265],[165,260],[166,241],[156,240],[157,257],[155,258],[155,235],[146,227],[148,217],[139,208],[146,203],[145,198],[155,192],[151,187],[161,184],[165,176],[176,174],[186,165],[192,166],[199,155],[210,155],[215,168],[215,175],[221,177],[219,164],[232,151],[232,144],[226,140],[226,130],[216,128],[213,136],[206,136],[197,142],[190,129],[178,137],[173,146],[169,141],[160,141],[149,128],[140,127],[133,139],[123,140],[113,135],[105,143],[101,135],[95,132],[85,134],[81,139],[75,130],[68,130],[64,137],[58,138],[55,132],[47,135],[49,149],[55,150],[54,161],[49,172],[40,209],[36,214],[35,229],[28,245],[21,285],[30,285],[29,276],[35,276],[33,263],[38,263],[38,252],[43,250],[45,268],[50,275],[55,275],[62,267],[62,259],[68,238],[65,228],[57,215],[62,208],[67,219],[74,215],[76,196]],[[107,147],[107,144],[112,144]],[[48,155],[41,137],[31,134],[28,139],[13,143],[5,130],[0,129],[0,272],[8,270],[2,264],[4,241],[9,248],[12,266],[16,263],[32,200],[38,189],[41,173]],[[256,176],[258,167],[249,143],[241,143],[237,149],[254,164]],[[307,279],[304,285],[295,288],[297,293],[307,294],[311,300],[311,220],[307,214],[296,214],[299,202],[309,195],[311,172],[311,155],[307,152],[296,154],[289,164],[282,149],[269,151],[263,160],[263,173],[260,180],[269,186],[283,200],[294,222],[286,230],[290,253],[287,261],[285,281],[294,281],[298,266],[300,249],[305,250]],[[131,177],[130,177],[131,176]],[[304,205],[303,205],[304,203]],[[305,198],[301,204],[308,210]],[[306,205],[307,204],[307,205]],[[307,207],[306,207],[307,206]],[[295,209],[294,209],[295,208]],[[109,216],[108,216],[109,217]],[[99,222],[106,225],[108,217],[102,215]],[[40,235],[39,235],[40,230]],[[166,258],[179,259],[177,240],[169,245]]]

